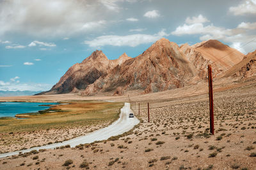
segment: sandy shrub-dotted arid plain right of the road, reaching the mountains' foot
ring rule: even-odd
[[[68,94],[0,98],[129,101],[141,119],[140,125],[119,139],[6,157],[0,159],[0,169],[256,169],[256,81],[250,78],[227,82],[228,79],[214,81],[214,135],[209,134],[207,82],[153,94],[131,92],[120,97]]]

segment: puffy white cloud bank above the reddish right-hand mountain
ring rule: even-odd
[[[250,22],[242,22],[233,29],[216,27],[213,24],[204,25],[202,23],[195,23],[180,25],[172,34],[175,36],[198,34],[201,41],[218,39],[228,43],[242,53],[248,53],[255,50],[256,46],[256,39],[252,41],[252,38],[255,38],[252,35],[256,34],[256,29],[253,29],[254,27],[255,23]]]

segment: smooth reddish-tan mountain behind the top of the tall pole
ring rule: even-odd
[[[189,62],[196,67],[196,72],[202,79],[206,79],[208,64],[212,65],[212,74],[216,76],[240,62],[244,57],[243,53],[214,39],[192,46],[184,44],[180,49],[186,54]]]

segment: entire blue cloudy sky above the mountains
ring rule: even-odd
[[[0,0],[0,90],[49,90],[95,50],[136,57],[155,41],[256,50],[256,0]]]

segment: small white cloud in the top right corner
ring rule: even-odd
[[[255,14],[256,13],[256,1],[246,0],[238,6],[231,6],[229,11],[234,15],[244,15],[244,14]]]

